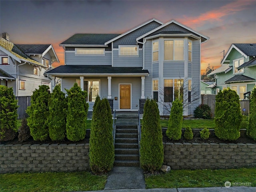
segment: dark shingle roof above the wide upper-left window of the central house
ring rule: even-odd
[[[104,45],[120,34],[74,34],[60,45]]]

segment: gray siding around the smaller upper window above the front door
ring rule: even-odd
[[[143,52],[139,50],[139,56],[118,56],[118,50],[113,50],[113,64],[114,67],[142,67]]]

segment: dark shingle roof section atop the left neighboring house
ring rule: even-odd
[[[51,44],[15,44],[25,54],[42,54]]]

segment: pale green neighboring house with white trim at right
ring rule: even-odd
[[[232,44],[221,62],[222,66],[208,74],[215,76],[216,84],[212,88],[215,94],[229,87],[241,100],[244,99],[244,94],[251,92],[256,85],[255,57],[256,44]]]

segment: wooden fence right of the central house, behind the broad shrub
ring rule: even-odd
[[[211,108],[211,116],[214,118],[215,112],[215,96],[214,94],[201,95],[201,104],[206,104]],[[250,112],[249,100],[240,100],[241,113],[248,115]]]

